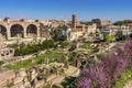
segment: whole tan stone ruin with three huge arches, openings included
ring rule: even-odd
[[[10,18],[6,18],[0,21],[0,33],[4,40],[12,40],[16,37],[38,37],[40,36],[40,22],[15,20],[11,21]]]

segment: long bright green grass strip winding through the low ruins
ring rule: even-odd
[[[9,64],[6,65],[4,68],[6,69],[20,69],[20,68],[31,68],[33,66],[37,66],[45,58],[52,59],[53,62],[59,62],[61,56],[63,55],[63,53],[57,53],[57,52],[48,52],[46,54],[43,54],[41,56],[35,57],[35,62],[32,63],[31,61],[23,61],[23,62],[19,62],[19,63],[14,63],[14,64]]]

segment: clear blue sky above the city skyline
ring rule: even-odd
[[[0,0],[0,19],[132,20],[132,0]]]

